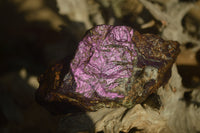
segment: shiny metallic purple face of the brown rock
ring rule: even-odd
[[[133,32],[127,26],[99,25],[85,35],[70,64],[77,93],[87,98],[124,97],[125,90],[119,93],[116,87],[131,77],[137,56],[131,40]]]

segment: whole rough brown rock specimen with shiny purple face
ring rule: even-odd
[[[40,77],[37,101],[84,110],[133,107],[167,83],[179,44],[128,26],[99,25],[80,41],[70,70],[61,62]]]

